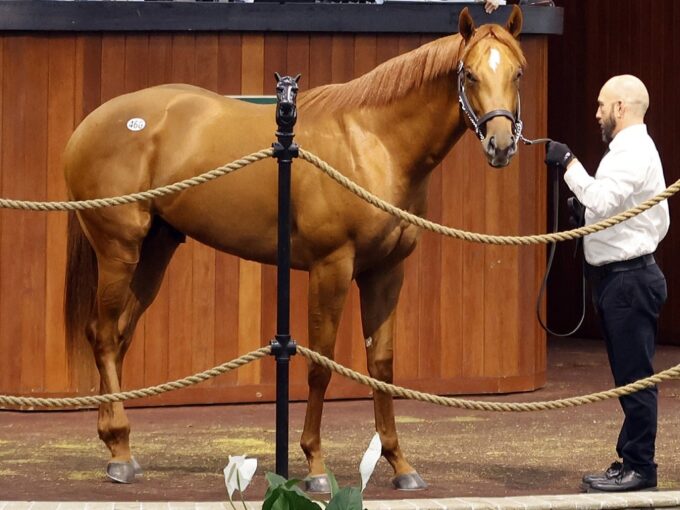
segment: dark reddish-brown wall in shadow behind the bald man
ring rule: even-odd
[[[631,73],[645,82],[651,99],[646,122],[664,165],[666,183],[680,179],[680,3],[674,0],[557,0],[564,7],[564,34],[550,38],[549,135],[566,142],[594,173],[604,152],[595,120],[597,96],[604,82]],[[568,228],[566,196],[560,229]],[[661,315],[660,341],[680,345],[680,198],[669,202],[671,229],[657,251],[666,275],[668,301]],[[573,245],[560,247],[548,291],[550,325],[576,325],[580,304],[580,262]],[[577,335],[599,338],[588,296],[587,320]]]

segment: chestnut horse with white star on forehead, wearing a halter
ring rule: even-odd
[[[459,33],[395,57],[345,84],[299,96],[296,138],[384,200],[423,215],[431,171],[468,127],[490,165],[517,150],[519,81],[525,59],[516,40],[522,12],[505,25],[476,27],[467,9]],[[70,198],[110,197],[200,174],[268,147],[273,105],[253,105],[188,85],[117,97],[91,113],[65,151]],[[512,112],[512,113],[511,113]],[[66,322],[87,337],[102,393],[121,389],[123,358],[165,269],[188,235],[245,259],[276,263],[277,165],[272,158],[169,197],[79,211],[69,229]],[[395,309],[404,259],[419,229],[366,204],[303,161],[292,175],[292,254],[309,272],[309,345],[333,357],[352,280],[360,292],[368,370],[392,381]],[[331,374],[309,365],[309,399],[300,440],[307,488],[325,491],[321,414]],[[382,454],[400,489],[426,486],[399,447],[392,397],[374,395]],[[111,452],[107,474],[131,482],[122,403],[102,404],[99,437]]]

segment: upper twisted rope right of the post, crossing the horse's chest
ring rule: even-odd
[[[408,211],[399,209],[398,207],[395,207],[394,205],[385,202],[381,198],[375,196],[371,192],[366,191],[364,188],[362,188],[355,182],[345,177],[335,168],[333,168],[328,163],[321,160],[318,156],[312,154],[311,152],[307,152],[303,149],[300,149],[300,158],[304,159],[305,161],[319,168],[321,171],[325,172],[333,180],[347,188],[349,191],[357,195],[359,198],[365,200],[369,204],[377,207],[378,209],[381,209],[386,213],[391,214],[392,216],[400,218],[408,223],[411,223],[412,225],[420,227],[424,230],[429,230],[430,232],[434,232],[436,234],[441,234],[447,237],[454,237],[456,239],[464,239],[466,241],[474,241],[477,243],[485,244],[529,245],[529,244],[547,244],[553,243],[555,241],[568,241],[571,239],[578,239],[579,237],[583,237],[588,234],[593,234],[595,232],[605,230],[627,219],[633,218],[634,216],[637,216],[638,214],[641,214],[647,209],[650,209],[651,207],[655,206],[659,202],[675,195],[680,190],[680,179],[678,179],[671,186],[669,186],[664,191],[659,193],[657,196],[650,198],[649,200],[638,205],[637,207],[633,207],[631,209],[628,209],[627,211],[617,214],[616,216],[612,216],[611,218],[607,218],[597,223],[593,223],[592,225],[587,225],[573,230],[555,232],[553,234],[536,234],[529,236],[496,236],[467,232],[465,230],[446,227],[444,225],[440,225],[439,223],[426,220]]]

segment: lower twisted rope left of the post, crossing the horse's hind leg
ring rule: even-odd
[[[123,391],[120,393],[107,393],[105,395],[91,395],[88,397],[72,398],[36,398],[36,397],[13,397],[10,395],[0,395],[0,405],[9,406],[32,406],[32,407],[73,407],[73,406],[93,406],[110,402],[122,402],[136,398],[153,397],[168,391],[181,390],[194,384],[207,381],[218,375],[226,374],[232,370],[240,368],[252,361],[264,358],[271,354],[271,347],[261,347],[255,351],[244,354],[232,361],[228,361],[214,368],[195,375],[190,375],[184,379],[151,386],[140,390]]]

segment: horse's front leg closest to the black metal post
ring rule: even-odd
[[[309,271],[309,346],[333,358],[335,336],[352,281],[353,259],[337,257],[324,260]],[[300,446],[307,457],[309,475],[305,488],[309,492],[330,492],[321,452],[321,414],[331,371],[308,362],[309,397]]]

